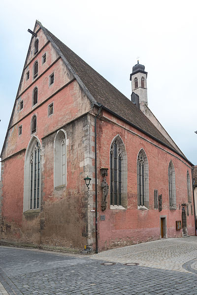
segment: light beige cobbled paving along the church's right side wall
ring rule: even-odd
[[[188,272],[182,265],[197,258],[197,236],[131,245],[103,251],[90,258],[120,263],[137,262],[140,266]],[[197,270],[197,261],[193,262],[192,268]]]

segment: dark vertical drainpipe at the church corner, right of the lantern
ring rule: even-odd
[[[98,252],[98,204],[97,204],[97,117],[101,112],[102,106],[99,107],[99,112],[95,116],[95,230],[96,230],[96,253]]]

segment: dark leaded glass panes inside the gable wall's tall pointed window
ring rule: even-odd
[[[39,208],[39,193],[40,193],[40,147],[38,142],[34,145],[31,154],[31,185],[30,185],[30,209]]]

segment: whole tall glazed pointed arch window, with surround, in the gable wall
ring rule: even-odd
[[[36,137],[31,139],[25,157],[24,212],[40,208],[41,146]]]

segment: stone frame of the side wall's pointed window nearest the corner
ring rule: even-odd
[[[118,142],[118,146],[121,149],[121,157],[122,157],[122,164],[121,164],[121,204],[117,201],[117,204],[113,203],[114,200],[114,155],[112,146],[114,142]],[[111,158],[112,153],[112,158]],[[112,169],[111,169],[111,159],[112,159]],[[111,144],[110,144],[110,151],[109,151],[109,167],[110,167],[110,209],[127,209],[127,152],[125,144],[119,134],[117,134]],[[118,168],[118,167],[117,167]],[[118,193],[118,192],[117,192]],[[117,197],[118,199],[118,197]]]

